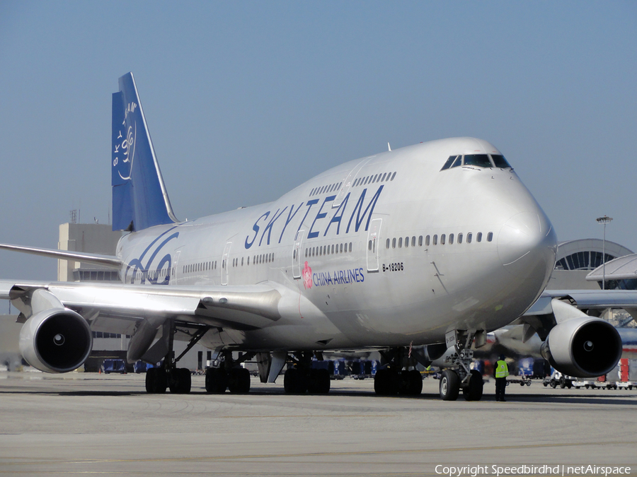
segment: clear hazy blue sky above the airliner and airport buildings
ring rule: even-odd
[[[560,240],[637,252],[634,1],[0,2],[0,242],[108,221],[133,71],[178,218],[272,201],[420,141],[492,142]],[[1,278],[54,279],[0,252]]]

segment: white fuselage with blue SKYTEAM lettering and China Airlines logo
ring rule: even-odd
[[[471,138],[421,143],[333,167],[270,204],[133,232],[117,247],[122,279],[265,283],[284,296],[281,319],[208,346],[408,346],[498,329],[544,289],[556,235],[510,167],[441,170],[463,154],[500,153]]]

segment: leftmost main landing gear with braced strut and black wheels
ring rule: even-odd
[[[206,331],[207,328],[197,329],[183,353],[181,353],[177,358],[173,358],[173,338],[176,333],[176,329],[174,326],[170,326],[168,336],[168,353],[163,359],[162,365],[160,367],[151,367],[146,372],[147,392],[151,394],[163,394],[166,392],[166,388],[168,388],[171,390],[171,393],[174,394],[190,393],[190,370],[187,367],[177,367],[177,362],[183,358],[185,353],[188,353],[188,351],[197,344]]]

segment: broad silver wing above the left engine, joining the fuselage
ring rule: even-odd
[[[38,289],[49,291],[64,307],[81,314],[91,329],[122,334],[132,334],[135,323],[144,318],[245,330],[268,326],[281,317],[282,295],[268,284],[180,287],[0,281],[0,299],[11,300],[25,319],[30,316],[30,298]],[[117,326],[117,321],[124,324]]]

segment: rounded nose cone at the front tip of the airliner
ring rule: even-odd
[[[498,256],[517,278],[546,283],[555,266],[557,237],[544,213],[520,212],[498,235]]]

